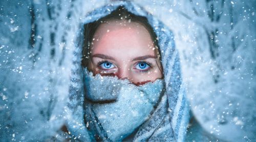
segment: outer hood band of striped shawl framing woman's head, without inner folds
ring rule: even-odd
[[[75,52],[73,58],[73,67],[71,75],[69,103],[67,109],[67,127],[74,137],[83,141],[90,141],[92,137],[87,131],[83,120],[83,68],[81,66],[82,45],[83,45],[83,27],[85,24],[93,22],[101,17],[110,14],[119,6],[125,7],[129,12],[144,16],[153,27],[161,51],[161,60],[163,66],[165,90],[167,94],[168,111],[170,116],[170,128],[173,129],[174,139],[183,141],[188,120],[189,109],[185,97],[185,89],[182,84],[182,75],[178,50],[175,49],[174,36],[172,32],[156,17],[148,13],[142,7],[133,2],[113,2],[105,5],[87,14],[80,23],[75,41]]]

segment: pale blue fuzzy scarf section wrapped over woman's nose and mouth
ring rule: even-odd
[[[162,79],[136,86],[127,79],[93,76],[84,69],[84,120],[88,129],[99,141],[123,140],[151,118],[163,86]]]

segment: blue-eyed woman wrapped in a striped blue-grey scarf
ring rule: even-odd
[[[182,141],[189,116],[168,28],[131,2],[101,7],[81,27],[71,134],[83,141]]]

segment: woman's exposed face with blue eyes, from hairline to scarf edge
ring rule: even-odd
[[[96,30],[91,57],[94,73],[144,84],[162,78],[150,33],[137,22],[109,21]]]

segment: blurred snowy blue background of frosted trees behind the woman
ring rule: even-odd
[[[88,12],[114,2],[0,1],[3,141],[56,136],[66,119],[79,24]],[[255,141],[256,1],[134,3],[173,31],[191,114],[203,130],[223,141]]]

